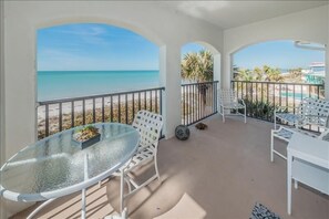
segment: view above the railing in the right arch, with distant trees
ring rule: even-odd
[[[240,70],[245,71],[244,75],[240,74],[245,81],[320,84],[325,81],[325,59],[323,44],[302,41],[261,42],[233,53],[233,79]]]

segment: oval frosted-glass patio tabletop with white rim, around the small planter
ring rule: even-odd
[[[109,177],[137,148],[140,135],[132,126],[94,124],[101,140],[81,149],[71,128],[27,146],[0,171],[0,195],[14,201],[40,201],[65,196]]]

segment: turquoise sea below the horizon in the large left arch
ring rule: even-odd
[[[40,71],[38,101],[160,86],[158,71]]]

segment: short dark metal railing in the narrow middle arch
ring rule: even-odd
[[[182,84],[182,124],[192,125],[217,113],[218,81]]]

